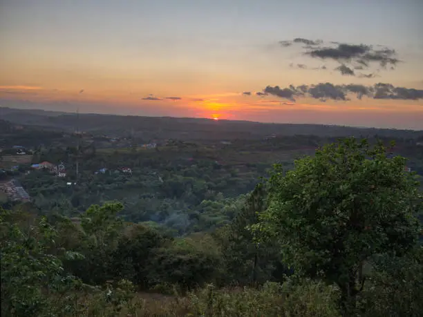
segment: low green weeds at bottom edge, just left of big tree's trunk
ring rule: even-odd
[[[279,285],[267,282],[260,289],[215,289],[207,285],[190,295],[193,316],[340,316],[339,291],[321,282]]]

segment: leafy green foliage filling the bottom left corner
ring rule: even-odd
[[[50,296],[73,290],[78,281],[64,273],[62,261],[50,253],[57,233],[41,218],[22,231],[0,209],[1,315],[46,316]]]

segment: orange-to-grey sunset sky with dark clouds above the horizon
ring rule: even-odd
[[[422,0],[0,0],[0,106],[423,129]]]

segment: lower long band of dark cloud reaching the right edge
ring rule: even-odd
[[[263,91],[269,95],[290,99],[294,97],[312,97],[324,102],[327,99],[349,100],[347,95],[355,94],[357,99],[366,96],[373,99],[402,99],[418,100],[423,99],[423,90],[414,88],[395,87],[392,84],[379,83],[374,86],[364,86],[360,84],[334,85],[331,83],[320,83],[312,86],[301,85],[289,88],[279,86],[267,86]]]

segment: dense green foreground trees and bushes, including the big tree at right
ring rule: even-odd
[[[404,166],[343,140],[201,201],[210,232],[183,237],[127,222],[125,202],[2,209],[2,316],[420,316],[422,196]]]

